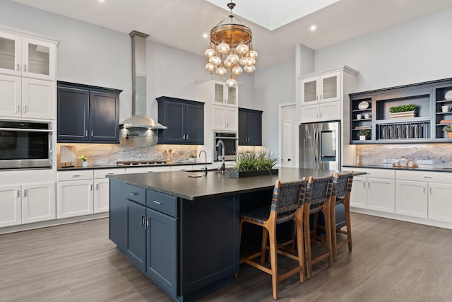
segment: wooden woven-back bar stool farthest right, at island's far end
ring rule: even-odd
[[[333,192],[331,195],[331,238],[333,239],[333,260],[338,260],[338,248],[348,243],[348,250],[352,251],[352,227],[350,224],[350,192],[352,192],[353,172],[335,173],[333,179]],[[343,204],[345,209],[346,231],[336,228],[335,207]],[[347,235],[347,239],[337,241],[337,233]]]

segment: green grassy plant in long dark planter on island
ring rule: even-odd
[[[230,177],[240,178],[256,175],[276,175],[278,169],[273,166],[278,162],[278,156],[269,151],[246,152],[237,156],[234,170]]]

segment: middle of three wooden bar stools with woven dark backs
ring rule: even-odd
[[[304,197],[304,244],[306,245],[307,277],[311,279],[312,265],[328,257],[328,266],[333,265],[333,252],[331,243],[331,193],[333,191],[333,175],[323,178],[309,177]],[[311,256],[311,231],[309,226],[309,215],[319,211],[325,217],[326,252],[312,258]],[[315,232],[315,229],[314,229]],[[315,238],[316,234],[313,233]]]

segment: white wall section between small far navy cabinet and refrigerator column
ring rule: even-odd
[[[295,103],[295,59],[256,69],[255,73],[254,101],[249,103],[249,108],[263,110],[262,145],[278,153],[278,105]]]

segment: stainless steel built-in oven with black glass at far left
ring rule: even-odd
[[[48,122],[0,121],[0,169],[52,168]]]

